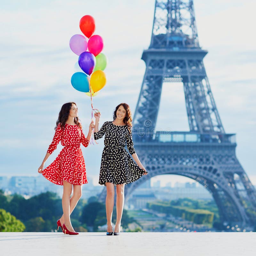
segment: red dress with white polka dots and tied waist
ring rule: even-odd
[[[59,123],[47,152],[52,154],[60,141],[64,148],[52,164],[43,170],[42,174],[47,180],[57,185],[63,185],[63,180],[74,185],[87,183],[80,144],[87,147],[89,140],[85,138],[82,129],[78,125],[70,124],[65,124],[64,129],[61,129]]]

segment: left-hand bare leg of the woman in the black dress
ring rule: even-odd
[[[113,232],[112,230],[112,213],[114,207],[114,184],[106,182],[107,196],[106,196],[106,215],[107,215],[107,232]]]

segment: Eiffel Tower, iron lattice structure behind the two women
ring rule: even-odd
[[[156,0],[132,129],[149,174],[125,186],[125,198],[156,175],[182,175],[212,194],[223,224],[246,227],[255,222],[256,191],[236,158],[236,135],[225,133],[221,123],[204,68],[206,54],[198,42],[193,0]],[[190,132],[156,130],[164,82],[183,83]],[[105,196],[103,190],[100,199]]]

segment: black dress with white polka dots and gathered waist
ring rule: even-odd
[[[144,173],[126,151],[125,144],[132,155],[135,153],[132,134],[127,125],[115,125],[111,121],[105,122],[99,132],[94,132],[94,139],[104,138],[104,149],[100,165],[99,183],[106,186],[106,182],[128,184],[138,180]]]

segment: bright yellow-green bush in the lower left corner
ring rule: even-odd
[[[0,209],[0,232],[22,232],[25,225],[10,212]]]

